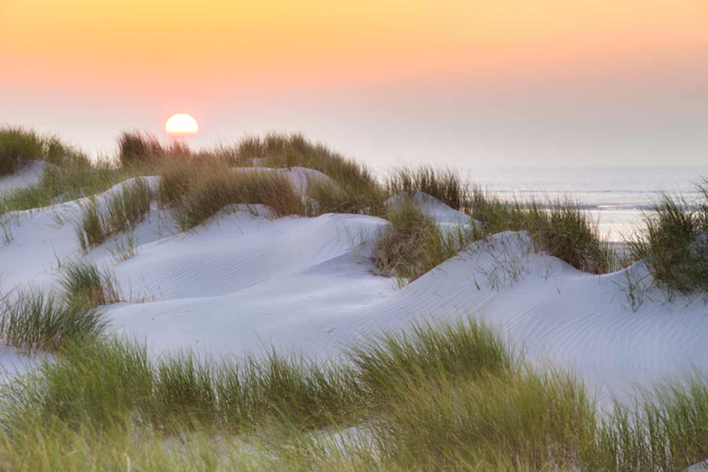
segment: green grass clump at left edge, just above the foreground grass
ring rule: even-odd
[[[67,304],[38,290],[18,292],[0,303],[0,338],[24,352],[57,352],[67,343],[101,333],[102,313]]]

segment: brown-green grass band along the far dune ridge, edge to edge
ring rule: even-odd
[[[84,203],[76,234],[85,251],[113,234],[132,229],[149,212],[152,200],[173,212],[182,230],[207,223],[219,209],[229,205],[262,204],[273,210],[273,217],[338,212],[389,219],[392,226],[382,234],[377,265],[382,273],[411,280],[469,242],[510,230],[528,231],[539,250],[579,270],[603,274],[646,259],[656,280],[670,290],[687,293],[708,288],[705,183],[700,185],[704,195],[701,202],[685,202],[668,195],[658,202],[656,209],[646,215],[644,231],[627,241],[629,258],[619,258],[599,234],[597,222],[572,200],[503,201],[450,168],[399,166],[379,178],[362,164],[311,142],[302,134],[271,133],[247,137],[233,146],[193,151],[183,143],[165,145],[150,134],[124,132],[118,139],[118,159],[92,163],[86,154],[57,137],[42,137],[22,128],[1,129],[0,161],[5,172],[17,171],[28,159],[54,165],[42,173],[38,183],[0,193],[0,218],[14,210],[92,197],[130,178],[161,177],[155,192],[138,179],[104,205],[91,199]],[[303,197],[282,175],[261,171],[266,167],[293,166],[312,168],[331,180],[310,179]],[[415,191],[425,192],[479,223],[473,225],[472,234],[457,231],[453,237],[449,231],[426,224],[420,215],[415,222],[408,221],[409,225],[422,226],[407,231],[407,243],[416,245],[416,241],[421,241],[427,248],[416,249],[426,253],[416,263],[417,268],[400,260],[400,251],[399,256],[393,254],[396,248],[403,248],[404,219],[413,218],[414,212],[392,212],[386,205],[393,195]]]

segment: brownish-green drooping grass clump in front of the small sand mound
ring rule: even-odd
[[[409,282],[452,258],[472,242],[472,231],[460,226],[443,231],[435,219],[416,207],[411,198],[389,205],[389,225],[382,231],[374,254],[379,272]]]

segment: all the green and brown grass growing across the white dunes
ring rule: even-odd
[[[265,205],[273,218],[370,214],[388,221],[375,241],[377,271],[404,282],[474,241],[528,231],[539,251],[578,270],[603,274],[641,259],[670,290],[708,289],[706,183],[702,202],[665,197],[646,214],[646,231],[620,260],[570,200],[502,201],[428,166],[379,178],[300,134],[193,151],[126,132],[118,147],[117,159],[91,162],[55,137],[1,129],[0,176],[28,159],[52,166],[0,194],[0,218],[81,199],[76,237],[89,252],[133,231],[151,207],[179,231],[200,231],[234,205]],[[285,173],[265,169],[292,167],[331,180],[309,178],[301,195]],[[438,224],[413,192],[467,219]],[[327,362],[275,348],[156,355],[147,341],[107,329],[101,307],[122,301],[110,270],[69,260],[59,280],[55,293],[0,299],[4,345],[51,354],[0,386],[0,470],[666,472],[708,458],[700,374],[605,410],[572,372],[532,366],[472,318],[380,333]]]

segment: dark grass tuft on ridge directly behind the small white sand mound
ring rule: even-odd
[[[470,189],[462,175],[450,168],[432,166],[397,167],[386,179],[389,195],[425,192],[453,209],[462,210],[469,200]]]

